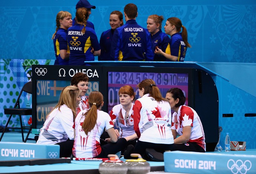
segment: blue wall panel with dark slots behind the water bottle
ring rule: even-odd
[[[223,128],[220,145],[224,148],[226,133],[230,141],[246,141],[246,148],[256,148],[256,117],[245,114],[256,113],[256,97],[233,86],[229,81],[216,76],[215,83],[219,94],[219,126]],[[233,114],[233,117],[223,117]]]

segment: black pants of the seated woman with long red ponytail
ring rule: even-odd
[[[125,138],[120,138],[116,143],[108,143],[101,146],[101,153],[95,158],[108,158],[109,154],[116,154],[125,148],[127,141]]]

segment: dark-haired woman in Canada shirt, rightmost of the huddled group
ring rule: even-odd
[[[171,121],[174,145],[170,150],[205,152],[206,143],[201,120],[193,108],[184,105],[186,97],[183,91],[180,88],[171,88],[165,98],[174,111]]]

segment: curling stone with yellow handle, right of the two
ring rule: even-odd
[[[146,174],[150,172],[150,164],[140,154],[131,154],[131,157],[138,157],[138,159],[125,161],[128,167],[127,174]]]

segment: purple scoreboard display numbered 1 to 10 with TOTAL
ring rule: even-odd
[[[173,87],[180,88],[186,96],[188,103],[188,73],[148,73],[148,72],[108,72],[108,113],[111,109],[120,104],[118,91],[122,86],[129,85],[134,88],[136,94],[135,100],[138,99],[139,93],[137,84],[142,80],[151,78],[160,89],[161,94],[165,97],[166,92]]]

